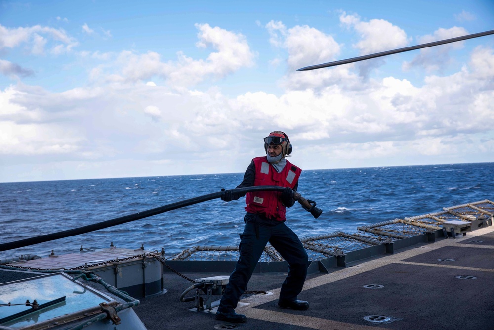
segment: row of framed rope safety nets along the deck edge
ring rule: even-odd
[[[451,220],[486,221],[493,220],[494,203],[482,200],[474,203],[445,207],[443,211],[406,217],[360,226],[355,234],[334,232],[329,234],[306,236],[300,239],[309,260],[320,260],[329,256],[344,255],[351,251],[392,242],[398,239],[434,232],[442,228],[442,224]],[[171,260],[187,261],[237,261],[238,246],[195,246],[183,250]],[[260,262],[283,261],[280,254],[268,244],[259,259]]]

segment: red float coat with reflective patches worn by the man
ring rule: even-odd
[[[278,173],[267,157],[256,157],[252,159],[255,165],[254,186],[281,186],[293,189],[298,182],[302,170],[287,160],[287,164]],[[246,194],[246,211],[264,215],[268,219],[279,221],[286,220],[287,208],[283,205],[281,192],[278,191],[255,191]]]

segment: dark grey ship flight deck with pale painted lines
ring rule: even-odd
[[[247,290],[268,294],[241,299],[243,324],[216,320],[216,308],[197,311],[194,302],[180,302],[192,283],[171,272],[164,274],[167,292],[141,299],[134,310],[149,330],[494,329],[494,226],[311,274],[299,295],[309,301],[308,311],[277,307],[285,276],[252,276]]]

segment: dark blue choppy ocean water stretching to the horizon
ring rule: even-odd
[[[0,183],[1,243],[77,228],[232,189],[243,173]],[[298,192],[317,202],[314,219],[298,203],[287,224],[299,237],[441,211],[443,207],[494,200],[494,163],[305,170]],[[45,257],[84,247],[147,250],[166,257],[197,245],[238,245],[245,198],[220,199],[153,217],[0,252],[0,258],[34,253]]]

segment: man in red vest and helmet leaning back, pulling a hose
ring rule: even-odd
[[[298,188],[298,178],[302,170],[286,160],[292,151],[288,136],[274,131],[264,138],[266,156],[252,159],[244,175],[244,180],[236,188],[251,186],[282,186],[283,192],[259,191],[246,195],[246,215],[244,232],[240,235],[240,257],[235,270],[230,275],[221,298],[216,319],[242,323],[245,315],[237,314],[235,308],[240,296],[247,289],[257,261],[269,242],[288,262],[288,276],[283,282],[278,306],[296,310],[307,310],[307,301],[297,300],[307,276],[308,256],[298,236],[285,225],[287,207],[293,206],[293,191]],[[232,190],[226,190],[221,197],[224,201],[237,200]]]

